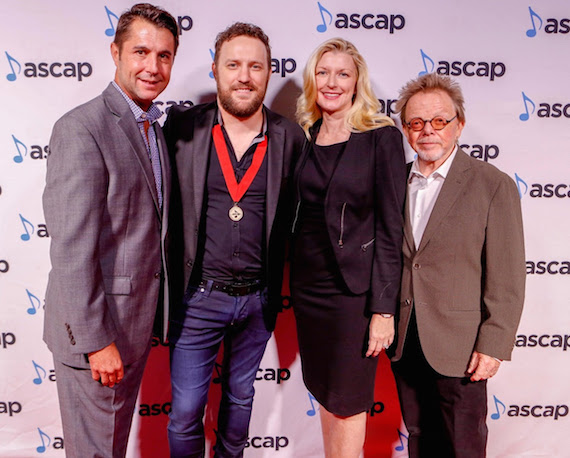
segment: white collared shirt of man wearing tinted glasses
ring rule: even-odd
[[[427,177],[420,172],[417,158],[412,164],[408,177],[408,198],[410,224],[416,249],[420,246],[429,217],[456,153],[457,145],[446,161]]]

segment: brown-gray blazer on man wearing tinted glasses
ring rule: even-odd
[[[526,273],[520,198],[508,175],[459,149],[417,250],[406,208],[403,255],[393,360],[412,307],[438,373],[463,377],[474,350],[510,359]]]

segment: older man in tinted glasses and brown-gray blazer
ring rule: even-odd
[[[518,191],[457,146],[463,103],[457,83],[432,73],[397,104],[417,152],[393,357],[410,457],[485,456],[486,380],[511,357],[524,301]]]

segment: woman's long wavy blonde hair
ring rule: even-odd
[[[322,43],[307,61],[303,73],[303,93],[297,99],[297,122],[310,138],[309,129],[322,118],[317,105],[317,82],[315,71],[321,57],[327,52],[343,52],[352,57],[356,66],[356,91],[352,107],[346,115],[346,127],[351,132],[366,132],[383,126],[393,126],[394,121],[379,114],[380,103],[372,91],[368,67],[362,55],[351,42],[342,38],[331,38]]]

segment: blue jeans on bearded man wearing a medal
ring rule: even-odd
[[[216,356],[222,340],[222,399],[218,413],[217,457],[241,457],[248,437],[253,382],[271,332],[262,307],[266,290],[228,296],[189,289],[170,328],[172,411],[168,424],[171,457],[203,457],[203,416]]]

